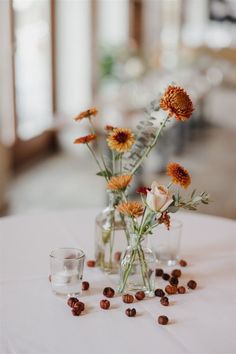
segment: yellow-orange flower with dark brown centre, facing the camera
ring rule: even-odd
[[[119,153],[129,151],[134,143],[134,134],[128,128],[115,128],[107,138],[111,150]]]

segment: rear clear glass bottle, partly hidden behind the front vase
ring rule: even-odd
[[[106,273],[119,272],[121,255],[129,242],[124,217],[116,210],[119,202],[120,197],[109,191],[108,207],[96,218],[95,259]]]

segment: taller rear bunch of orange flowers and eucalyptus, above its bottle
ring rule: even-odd
[[[154,113],[160,110],[163,113],[163,118],[156,127],[154,123],[157,121],[157,118]],[[85,144],[88,147],[98,165],[98,175],[106,179],[109,184],[109,189],[112,190],[113,184],[110,184],[110,180],[113,177],[123,175],[132,177],[143,160],[148,157],[166,127],[166,124],[172,118],[184,122],[191,117],[193,110],[192,101],[185,90],[170,85],[161,97],[152,101],[149,107],[147,107],[146,119],[139,122],[137,125],[136,136],[131,129],[128,128],[118,128],[110,125],[105,127],[105,131],[108,134],[106,140],[111,152],[111,160],[102,153],[97,156],[90,145],[90,143],[97,138],[93,125],[93,118],[98,113],[96,108],[90,108],[81,112],[74,118],[77,122],[88,119],[92,130],[90,134],[75,139],[74,144]],[[114,190],[117,193],[119,193],[120,189],[127,188],[129,184],[126,184],[127,178],[120,179],[120,181],[124,181],[125,185],[122,185],[122,188],[117,188],[116,186]]]

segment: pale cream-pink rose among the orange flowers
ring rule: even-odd
[[[173,202],[173,195],[166,186],[154,181],[147,192],[146,202],[151,210],[162,213]]]

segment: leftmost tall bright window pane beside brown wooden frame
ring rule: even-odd
[[[17,133],[29,139],[52,121],[50,1],[13,0]]]

